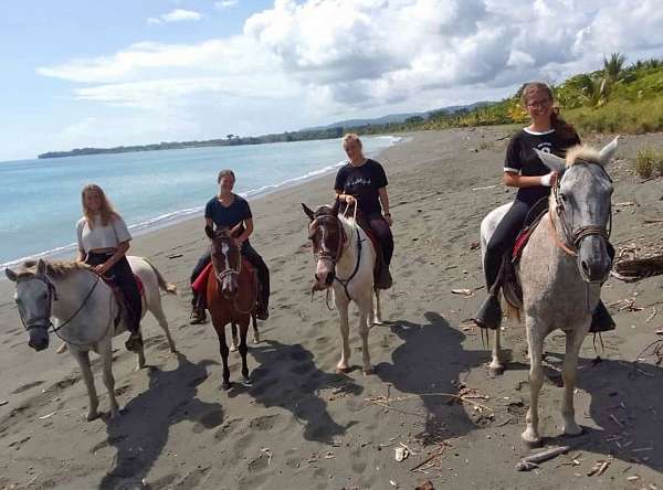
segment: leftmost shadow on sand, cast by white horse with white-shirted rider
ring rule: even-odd
[[[207,366],[213,361],[190,362],[177,353],[178,366],[161,371],[147,366],[149,388],[131,398],[118,420],[107,420],[107,440],[93,448],[113,446],[117,450],[115,467],[99,483],[102,490],[119,488],[145,488],[143,479],[157,461],[166,443],[169,428],[182,420],[194,424],[193,432],[200,433],[223,423],[223,409],[218,403],[198,400],[198,386],[208,377]],[[165,477],[168,486],[178,475]]]

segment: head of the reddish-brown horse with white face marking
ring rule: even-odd
[[[242,266],[240,247],[228,228],[213,231],[211,227],[206,226],[204,232],[212,241],[212,267],[214,277],[221,286],[221,294],[225,299],[232,299],[240,289],[239,276]]]

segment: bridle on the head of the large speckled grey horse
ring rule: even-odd
[[[612,182],[612,179],[610,179],[610,175],[608,174],[608,172],[606,171],[603,166],[601,166],[599,163],[583,160],[582,163],[576,163],[576,164],[594,164],[594,166],[599,167],[601,169],[601,171],[603,172],[603,174],[608,178],[608,180],[610,180],[610,182]],[[565,215],[565,202],[560,196],[560,189],[561,189],[561,177],[557,179],[557,182],[555,183],[555,185],[552,188],[552,196],[555,199],[555,212],[556,212],[559,223],[561,225],[561,235],[562,235],[561,238],[559,237],[559,234],[555,226],[555,220],[552,220],[551,217],[550,217],[550,220],[548,220],[550,223],[550,227],[552,228],[552,239],[555,241],[556,245],[559,248],[561,248],[567,255],[577,257],[582,239],[587,238],[588,236],[592,236],[592,235],[601,236],[606,241],[609,241],[610,234],[612,232],[612,205],[610,205],[610,210],[609,210],[608,226],[586,225],[586,226],[581,226],[578,230],[573,231],[572,220],[571,220],[571,223],[569,224],[569,222],[566,219],[566,215]]]

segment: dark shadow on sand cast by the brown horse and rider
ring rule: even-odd
[[[298,343],[287,345],[266,340],[252,347],[249,353],[259,364],[251,373],[253,384],[235,384],[229,396],[248,393],[265,407],[285,408],[303,425],[306,440],[330,444],[352,425],[337,424],[320,396],[323,391],[359,395],[364,387],[352,379],[320,371],[313,353]]]

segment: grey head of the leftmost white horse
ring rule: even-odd
[[[14,301],[23,327],[28,330],[30,345],[35,351],[43,351],[49,347],[49,328],[51,327],[51,307],[55,299],[55,287],[46,276],[46,264],[39,260],[36,264],[25,263],[25,268],[20,273],[4,269],[4,274],[15,283]]]

